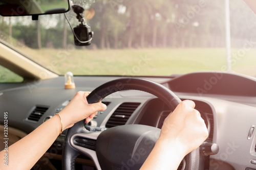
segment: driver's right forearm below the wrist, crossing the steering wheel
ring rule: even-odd
[[[179,141],[173,140],[167,142],[158,140],[140,169],[176,170],[184,156],[185,152]]]

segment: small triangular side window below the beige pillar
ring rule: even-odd
[[[21,83],[23,78],[0,65],[0,83]]]

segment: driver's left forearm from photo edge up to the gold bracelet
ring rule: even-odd
[[[40,125],[26,137],[12,144],[8,149],[9,164],[0,164],[0,169],[31,169],[42,155],[50,148],[59,135],[60,119],[57,115]],[[0,152],[4,157],[5,152]]]

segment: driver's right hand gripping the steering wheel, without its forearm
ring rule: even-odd
[[[158,142],[180,143],[184,154],[197,149],[208,137],[208,130],[195,103],[190,100],[181,102],[163,123]]]

